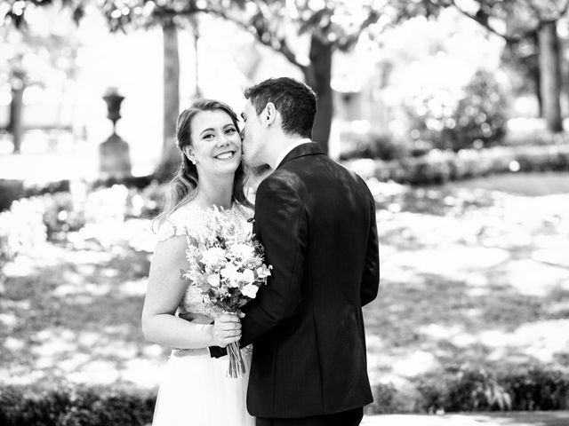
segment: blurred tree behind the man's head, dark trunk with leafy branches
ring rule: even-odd
[[[244,8],[215,12],[301,69],[305,83],[318,96],[313,138],[327,152],[333,118],[333,51],[348,51],[380,19],[378,3],[385,7],[385,2],[373,0],[249,0]]]

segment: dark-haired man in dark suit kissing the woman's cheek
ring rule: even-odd
[[[258,426],[357,425],[373,401],[361,309],[379,285],[373,196],[310,140],[307,85],[269,79],[244,95],[244,161],[274,170],[253,228],[272,276],[241,321],[240,343],[254,343],[247,408]]]

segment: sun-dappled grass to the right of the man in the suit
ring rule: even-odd
[[[379,197],[383,275],[365,307],[373,382],[566,364],[567,181],[492,177]]]

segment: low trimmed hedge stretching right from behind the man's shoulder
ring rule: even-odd
[[[527,171],[568,171],[569,144],[551,146],[497,146],[487,149],[430,151],[416,158],[383,162],[360,159],[346,162],[364,178],[401,184],[433,185],[471,177]]]

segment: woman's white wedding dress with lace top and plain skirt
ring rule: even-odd
[[[236,225],[236,232],[249,233],[252,209],[236,205],[222,214]],[[158,229],[158,239],[204,232],[204,210],[182,206]],[[188,286],[179,312],[212,318],[220,309],[204,300],[200,289]],[[173,349],[166,363],[156,399],[153,426],[253,426],[245,397],[249,382],[252,348],[241,350],[246,373],[227,377],[228,357],[213,359],[207,348]]]

